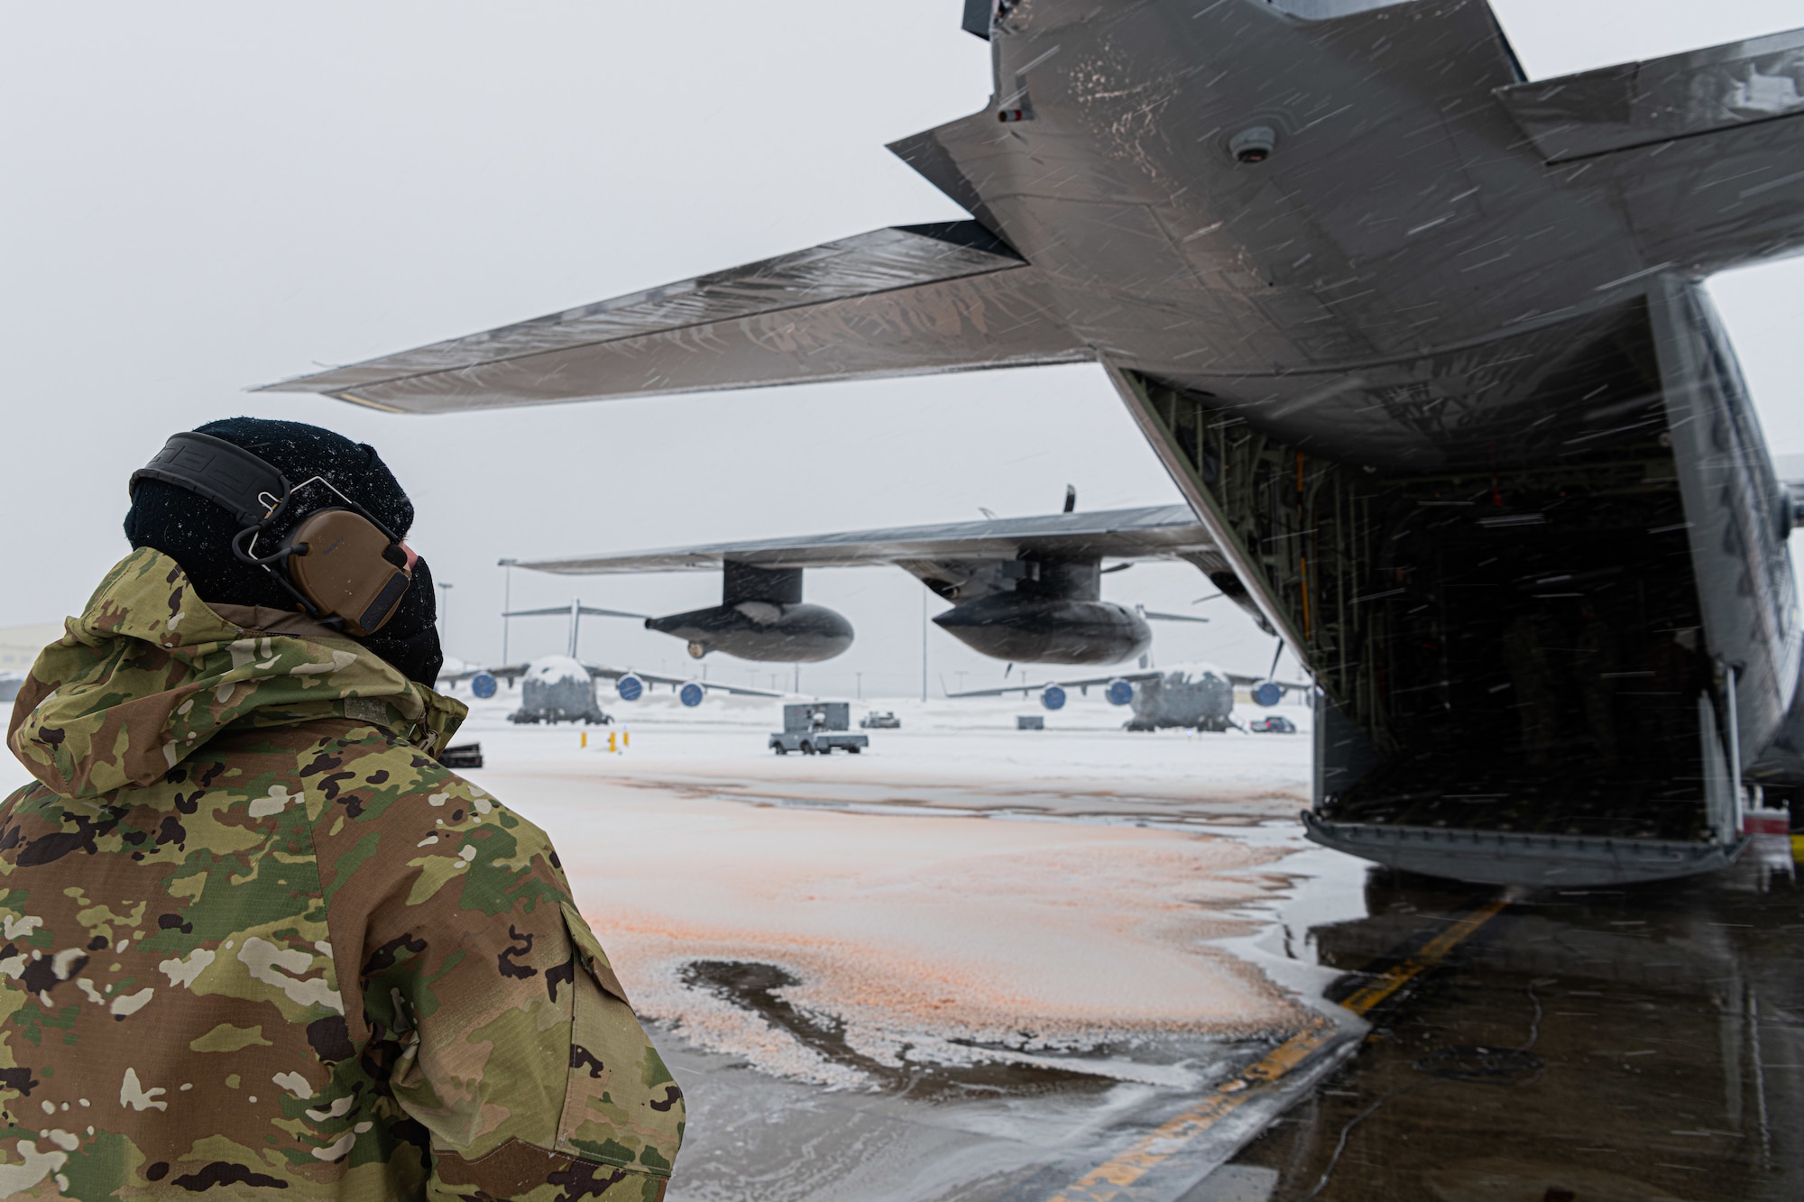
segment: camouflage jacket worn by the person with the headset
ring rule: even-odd
[[[682,1094],[464,707],[263,617],[137,550],[18,697],[0,1197],[660,1198]]]

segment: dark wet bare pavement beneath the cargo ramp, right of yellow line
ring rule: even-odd
[[[1274,1202],[1804,1198],[1790,861],[1770,841],[1712,877],[1515,899],[1236,1164]],[[1358,980],[1468,902],[1373,872],[1371,915],[1313,938]]]

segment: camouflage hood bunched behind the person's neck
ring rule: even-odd
[[[13,702],[7,744],[69,798],[161,780],[233,726],[343,717],[437,754],[469,713],[298,614],[207,606],[150,547],[63,628]]]

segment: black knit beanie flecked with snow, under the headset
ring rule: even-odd
[[[198,426],[197,431],[242,446],[276,467],[290,484],[325,476],[332,487],[368,509],[399,538],[406,538],[413,525],[413,502],[375,448],[364,442],[352,442],[345,435],[305,422],[262,417],[227,417]],[[337,504],[332,489],[318,484],[299,489],[281,522],[260,540],[260,549],[272,549],[307,514]],[[244,563],[233,554],[231,540],[238,531],[238,520],[222,505],[162,480],[139,480],[132,493],[132,509],[124,516],[124,536],[132,547],[155,547],[180,563],[202,601],[299,610],[294,597],[265,569]],[[438,680],[438,668],[444,666],[438,628],[433,624],[437,617],[433,574],[426,559],[420,559],[413,567],[413,583],[400,599],[400,608],[382,630],[359,643],[404,671],[410,680],[431,688]]]

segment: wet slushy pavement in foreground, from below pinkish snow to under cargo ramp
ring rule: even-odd
[[[1283,942],[1297,980],[1328,971],[1328,1003],[1382,994],[1270,1079],[1272,1041],[1171,1041],[1117,1052],[1205,1081],[1099,1077],[1091,1049],[1068,1070],[922,1067],[823,1092],[675,1040],[696,1139],[671,1198],[1795,1202],[1804,892],[1788,846],[1766,857],[1510,897],[1360,868],[1366,917],[1279,915],[1248,940]],[[769,966],[698,966],[696,985],[857,1056],[785,1012]]]

